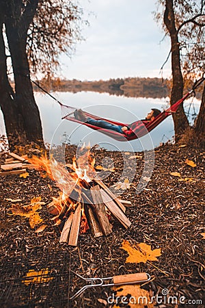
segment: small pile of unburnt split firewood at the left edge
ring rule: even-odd
[[[4,164],[1,165],[0,176],[4,175],[20,175],[27,169],[33,169],[33,165],[27,161],[27,155],[19,156],[15,153],[9,154],[11,157],[6,158]]]

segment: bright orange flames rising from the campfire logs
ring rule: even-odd
[[[66,164],[66,166],[57,162],[52,156],[48,159],[46,155],[43,157],[33,156],[28,160],[34,165],[34,168],[40,171],[42,177],[49,176],[61,190],[59,197],[53,197],[50,208],[50,213],[55,215],[51,220],[55,222],[55,226],[58,226],[70,211],[74,211],[79,204],[82,187],[90,188],[90,182],[96,176],[96,171],[94,170],[95,159],[90,153],[90,148],[82,148],[78,157],[73,157],[72,164]],[[69,172],[65,167],[71,168],[73,172]],[[77,203],[74,203],[70,197],[73,190],[79,193]],[[83,205],[81,209],[81,233],[85,233],[87,229],[89,229],[89,225]]]

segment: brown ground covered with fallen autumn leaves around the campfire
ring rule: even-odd
[[[75,151],[68,147],[66,162],[72,162]],[[131,201],[126,207],[131,227],[113,222],[107,237],[94,238],[87,231],[76,248],[59,244],[59,227],[46,209],[59,194],[55,182],[37,170],[1,177],[1,307],[204,307],[205,149],[156,149],[152,176],[139,194],[143,153],[124,153],[130,170],[136,157],[132,183],[122,172],[122,153],[95,149],[94,155],[104,183]],[[102,168],[106,161],[111,166]],[[151,280],[141,288],[92,287],[69,300],[84,284],[71,270],[85,278],[147,272]],[[139,296],[143,305],[135,304]]]

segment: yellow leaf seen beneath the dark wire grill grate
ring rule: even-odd
[[[53,279],[53,277],[49,277],[49,270],[48,268],[39,270],[36,272],[35,270],[29,270],[27,272],[26,277],[23,277],[25,279],[22,279],[22,282],[25,283],[25,285],[29,285],[30,283],[45,283],[49,282]]]

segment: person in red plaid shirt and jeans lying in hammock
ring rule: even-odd
[[[142,127],[146,127],[146,125],[150,123],[150,121],[154,120],[154,118],[156,118],[159,114],[161,114],[160,110],[152,108],[145,119],[137,120],[127,126],[115,125],[107,122],[106,120],[87,117],[81,109],[75,110],[74,117],[77,120],[84,123],[86,122],[90,125],[102,127],[103,129],[111,129],[112,131],[117,131],[118,133],[122,133],[126,136],[133,136],[133,134],[137,135],[137,131],[139,131]]]

